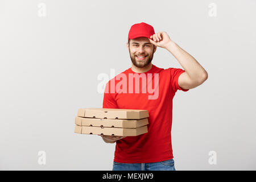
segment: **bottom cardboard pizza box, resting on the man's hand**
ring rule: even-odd
[[[147,133],[147,125],[142,126],[142,127],[137,127],[135,129],[123,129],[123,128],[115,128],[115,127],[78,126],[78,125],[76,125],[75,126],[75,133],[131,137],[131,136],[138,136],[138,135]]]

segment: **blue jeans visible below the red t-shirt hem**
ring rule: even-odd
[[[113,162],[113,171],[176,171],[174,159],[156,163],[117,163]]]

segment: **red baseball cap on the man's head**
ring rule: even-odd
[[[150,24],[147,24],[144,22],[136,23],[130,28],[130,31],[128,34],[128,41],[129,39],[135,39],[142,36],[150,39],[150,36],[154,34],[155,34],[154,28]]]

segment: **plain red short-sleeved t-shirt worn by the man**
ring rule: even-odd
[[[129,75],[135,74],[131,68],[109,80],[105,87],[102,108],[142,109],[148,110],[149,114],[148,133],[136,137],[125,137],[115,142],[114,162],[152,163],[174,158],[171,144],[172,99],[177,89],[183,90],[184,92],[189,90],[180,88],[178,84],[178,78],[183,72],[185,71],[180,68],[163,69],[152,65],[149,71],[137,73],[139,76],[141,74],[146,76],[147,80],[151,78],[152,86],[150,88],[154,89],[156,85],[154,92],[149,90],[148,87],[145,88],[142,78],[139,81],[139,92],[138,90],[136,92],[135,89],[135,78],[133,78],[133,88],[131,87],[132,85],[129,81],[132,79],[129,80]],[[123,78],[124,75],[127,76],[127,80]],[[147,77],[148,75],[152,77]],[[154,82],[155,77],[158,77],[158,84]],[[127,84],[120,86],[121,80],[127,82]],[[118,82],[120,82],[119,85],[117,85]],[[111,88],[113,89],[113,85],[111,86],[111,84],[117,86],[114,87],[116,88],[114,89],[114,93],[111,90]],[[151,84],[148,84],[146,81],[146,86]],[[156,93],[157,85],[159,86],[158,94]],[[126,86],[127,88],[125,88]],[[122,92],[118,88],[122,89]],[[143,92],[143,88],[148,89],[148,91],[146,93]],[[149,99],[148,96],[152,97],[153,93],[153,99]]]

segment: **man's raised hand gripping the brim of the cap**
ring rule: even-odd
[[[172,42],[170,36],[166,32],[157,32],[150,36],[150,43],[155,46],[166,48],[166,46]]]

